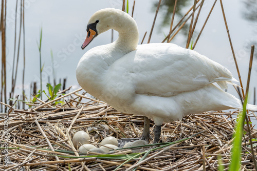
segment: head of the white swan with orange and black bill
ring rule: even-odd
[[[136,27],[134,29],[133,27]],[[114,8],[105,8],[95,12],[87,24],[87,36],[81,48],[84,49],[99,34],[114,29],[120,33],[133,28],[138,32],[135,20],[127,13]],[[133,30],[132,29],[132,30]]]

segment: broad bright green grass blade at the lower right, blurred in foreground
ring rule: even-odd
[[[241,164],[241,145],[242,145],[242,136],[244,130],[244,123],[246,117],[246,104],[247,104],[247,95],[243,104],[243,112],[238,115],[234,141],[231,155],[231,164],[229,166],[229,171],[239,170]]]

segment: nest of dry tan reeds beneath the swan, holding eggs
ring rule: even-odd
[[[65,99],[66,103],[54,105],[59,99]],[[115,157],[135,154],[137,157],[118,170],[136,167],[137,170],[217,170],[219,164],[228,168],[238,113],[192,114],[181,121],[165,123],[162,125],[162,142],[173,143],[118,149],[111,154],[112,159],[112,156],[106,158],[90,152],[79,154],[72,144],[72,136],[83,130],[90,135],[94,145],[106,136],[117,139],[140,137],[143,116],[116,111],[102,101],[87,97],[81,89],[51,101],[42,101],[29,110],[6,106],[9,108],[8,120],[6,114],[2,114],[0,120],[0,128],[5,131],[1,133],[0,170],[114,170],[127,161]],[[154,129],[153,122],[151,127]],[[253,127],[251,133],[252,138],[257,138],[257,130]],[[252,170],[248,133],[242,141],[242,168]],[[256,144],[256,141],[252,142]]]

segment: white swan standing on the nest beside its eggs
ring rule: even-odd
[[[174,44],[138,45],[137,24],[121,10],[107,8],[91,16],[82,49],[109,29],[119,32],[118,39],[87,51],[79,61],[77,80],[85,91],[116,110],[145,116],[144,140],[150,137],[148,118],[155,122],[157,143],[163,122],[242,108],[239,99],[212,84],[224,89],[234,80],[225,67]],[[250,104],[248,108],[257,110]]]

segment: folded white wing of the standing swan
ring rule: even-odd
[[[110,70],[121,82],[134,87],[135,93],[163,97],[195,91],[213,82],[226,89],[227,82],[234,80],[219,63],[174,44],[139,45],[116,60]]]

